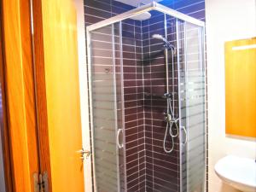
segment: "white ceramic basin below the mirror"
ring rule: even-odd
[[[244,192],[256,192],[255,160],[228,155],[214,167],[218,177],[236,189]]]

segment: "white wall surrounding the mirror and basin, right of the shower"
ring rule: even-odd
[[[255,0],[206,0],[209,192],[233,192],[214,173],[214,165],[226,154],[256,159],[253,139],[225,135],[224,42],[256,37]]]

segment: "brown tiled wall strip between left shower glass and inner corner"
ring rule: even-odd
[[[127,190],[145,191],[146,165],[141,22],[124,20],[122,34]]]

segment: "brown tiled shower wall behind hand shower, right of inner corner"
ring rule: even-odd
[[[166,64],[163,43],[152,38],[153,34],[165,37],[165,16],[152,13],[150,20],[143,21],[143,56],[144,56],[144,111],[146,135],[146,191],[178,191],[179,151],[175,141],[175,148],[171,154],[163,149],[163,139],[166,132],[164,113],[166,112]],[[175,25],[171,18],[167,18],[168,40],[175,45]],[[173,27],[174,26],[174,27]],[[172,35],[171,35],[172,34]],[[174,58],[176,59],[176,57]],[[169,89],[172,92],[172,55],[169,52]],[[176,64],[176,63],[174,63]],[[174,65],[176,66],[176,65]],[[175,71],[175,74],[177,70]],[[177,77],[177,74],[176,76]],[[175,82],[177,87],[177,81]],[[177,89],[176,89],[177,90]],[[177,108],[177,102],[176,102]],[[177,114],[177,110],[176,110]],[[170,148],[171,138],[166,139],[166,148]]]

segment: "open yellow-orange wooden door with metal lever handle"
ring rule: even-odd
[[[73,0],[33,1],[38,138],[54,192],[84,192],[77,13]]]

